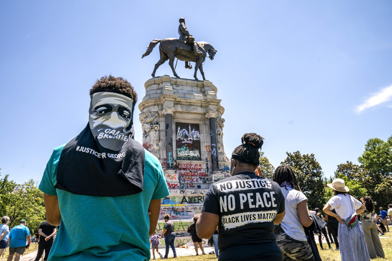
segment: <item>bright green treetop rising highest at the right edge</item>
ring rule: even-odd
[[[392,175],[392,136],[387,142],[378,138],[370,139],[365,151],[358,161],[372,173],[380,173],[383,177]]]

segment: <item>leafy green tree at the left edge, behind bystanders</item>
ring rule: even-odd
[[[45,220],[44,193],[35,187],[32,179],[19,185],[8,177],[0,179],[0,215],[10,217],[10,228],[25,219],[32,232],[38,231],[39,224]]]

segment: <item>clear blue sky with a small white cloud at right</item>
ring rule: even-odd
[[[203,67],[225,108],[226,154],[256,132],[275,167],[299,150],[329,177],[392,135],[391,1],[2,1],[1,175],[39,181],[52,149],[87,124],[99,77],[128,79],[141,101],[159,52],[141,56],[178,37],[180,17],[218,50]]]

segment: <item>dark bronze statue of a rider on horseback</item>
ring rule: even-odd
[[[154,71],[152,71],[151,73],[152,77],[155,77],[155,72],[158,67],[164,64],[167,60],[169,60],[169,65],[170,68],[172,68],[174,76],[179,78],[179,76],[174,70],[174,58],[177,58],[178,60],[185,61],[185,68],[187,69],[192,69],[192,66],[189,64],[189,62],[195,62],[195,73],[193,76],[196,80],[198,80],[196,77],[196,73],[197,70],[199,70],[201,76],[203,77],[203,80],[205,80],[203,63],[205,61],[205,58],[207,57],[207,54],[211,60],[214,60],[214,56],[217,53],[217,50],[214,49],[214,47],[207,42],[196,42],[195,38],[189,33],[187,27],[185,26],[185,18],[180,18],[179,22],[179,39],[166,38],[163,40],[152,40],[147,47],[147,51],[142,55],[142,58],[150,54],[152,52],[152,49],[158,43],[160,43],[160,59],[155,64]]]

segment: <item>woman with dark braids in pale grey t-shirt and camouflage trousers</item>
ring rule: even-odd
[[[275,231],[284,260],[315,260],[303,229],[313,223],[309,217],[308,198],[299,188],[293,169],[286,165],[278,166],[272,180],[279,184],[285,197],[286,215]]]

